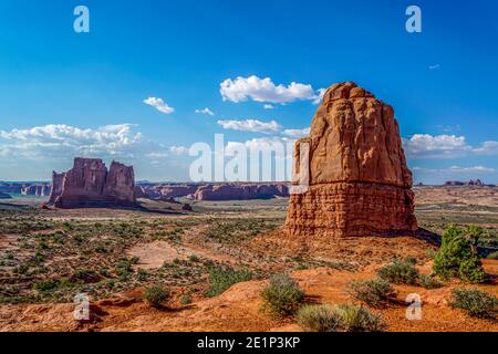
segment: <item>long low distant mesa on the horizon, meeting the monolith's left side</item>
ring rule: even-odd
[[[287,184],[222,184],[199,187],[196,200],[250,200],[289,197]]]

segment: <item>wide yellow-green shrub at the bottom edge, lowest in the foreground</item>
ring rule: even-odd
[[[298,323],[311,332],[380,332],[385,324],[367,309],[353,304],[308,305],[299,310]]]

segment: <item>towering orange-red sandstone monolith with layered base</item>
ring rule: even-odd
[[[300,166],[301,152],[309,152],[308,166]],[[417,229],[412,173],[394,111],[352,82],[326,91],[310,137],[295,144],[294,168],[309,174],[309,184],[290,198],[284,229],[291,235],[388,236]]]

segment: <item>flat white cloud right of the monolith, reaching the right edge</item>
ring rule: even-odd
[[[498,155],[498,142],[471,146],[465,136],[415,134],[403,139],[408,157],[455,158],[470,155]]]

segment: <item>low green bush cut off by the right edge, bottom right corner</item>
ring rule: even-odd
[[[454,309],[464,310],[474,317],[496,319],[498,314],[498,299],[478,289],[455,289],[452,292],[449,304]]]

